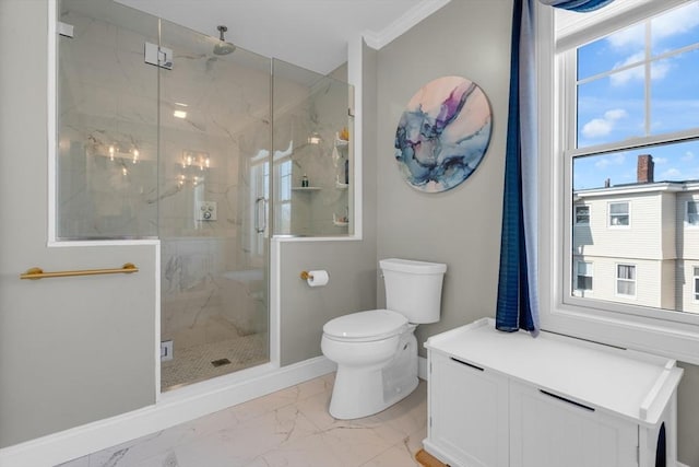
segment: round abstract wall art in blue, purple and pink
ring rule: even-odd
[[[469,178],[488,149],[491,116],[483,90],[465,78],[438,78],[420,87],[395,131],[395,161],[405,182],[439,192]]]

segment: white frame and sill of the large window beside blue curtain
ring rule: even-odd
[[[562,110],[569,102],[558,101],[560,79],[574,70],[556,66],[556,48],[581,45],[614,31],[678,5],[686,0],[616,1],[594,13],[580,14],[578,22],[559,27],[554,40],[554,9],[534,2],[536,70],[538,96],[538,287],[542,329],[631,348],[699,364],[699,315],[657,311],[627,303],[602,302],[570,295],[571,242],[570,229],[572,168],[561,156],[566,138],[559,127],[565,122],[574,128],[574,116]],[[554,79],[554,78],[557,79]],[[553,90],[553,91],[552,91]],[[559,104],[557,104],[557,102]],[[631,144],[632,142],[630,142]],[[629,311],[632,314],[629,314]]]

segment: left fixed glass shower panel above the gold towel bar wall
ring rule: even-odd
[[[58,236],[156,236],[158,74],[143,44],[157,43],[157,20],[110,2],[59,8],[74,35],[58,44]]]

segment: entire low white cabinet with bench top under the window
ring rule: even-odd
[[[425,347],[424,445],[451,467],[675,466],[674,360],[491,319]]]

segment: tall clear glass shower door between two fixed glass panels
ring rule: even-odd
[[[269,361],[270,59],[165,21],[161,31],[171,57],[158,68],[167,390]]]

